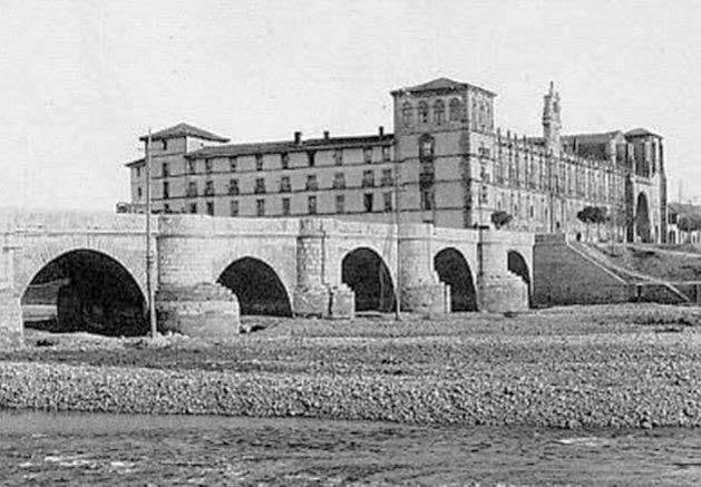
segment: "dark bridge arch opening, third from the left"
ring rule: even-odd
[[[395,309],[392,277],[377,252],[361,247],[341,262],[341,281],[356,293],[356,311],[389,312]]]

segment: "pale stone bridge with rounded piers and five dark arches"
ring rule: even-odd
[[[516,311],[528,306],[534,236],[329,218],[152,216],[158,327],[237,331],[238,313],[352,318],[357,311]],[[58,322],[147,330],[144,215],[0,213],[0,335],[57,290]],[[146,328],[144,328],[146,327]]]

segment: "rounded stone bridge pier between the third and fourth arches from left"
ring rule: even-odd
[[[402,225],[399,240],[401,309],[432,315],[450,309],[446,284],[434,270],[432,227]]]

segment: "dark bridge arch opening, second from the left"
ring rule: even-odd
[[[236,294],[241,314],[292,315],[288,292],[278,273],[259,259],[238,259],[216,282]]]

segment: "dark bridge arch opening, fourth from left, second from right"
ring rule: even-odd
[[[440,281],[450,285],[450,311],[477,311],[477,293],[470,267],[456,249],[444,249],[434,257]]]

